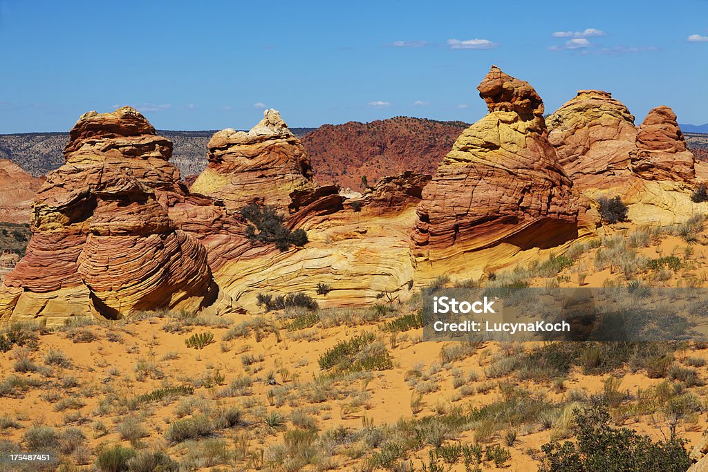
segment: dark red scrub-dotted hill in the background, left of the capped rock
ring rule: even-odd
[[[302,138],[312,160],[314,179],[365,190],[387,175],[415,169],[432,174],[469,124],[394,117],[368,123],[323,125]]]

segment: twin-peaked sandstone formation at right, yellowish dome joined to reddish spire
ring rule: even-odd
[[[619,195],[639,224],[670,224],[700,211],[690,201],[694,158],[670,108],[651,110],[637,128],[610,93],[581,90],[546,122],[561,165],[591,199]]]

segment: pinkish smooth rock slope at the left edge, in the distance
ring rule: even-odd
[[[32,200],[42,180],[16,163],[0,159],[0,221],[29,223]]]

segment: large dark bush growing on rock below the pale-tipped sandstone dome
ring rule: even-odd
[[[283,224],[285,217],[274,207],[251,203],[241,209],[241,215],[252,223],[246,227],[246,238],[251,243],[275,243],[280,251],[287,251],[291,245],[304,246],[308,242],[304,229],[290,231]]]

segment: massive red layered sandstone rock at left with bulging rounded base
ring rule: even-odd
[[[70,138],[66,163],[38,192],[26,255],[0,288],[0,319],[213,304],[207,251],[170,216],[188,200],[171,142],[130,107],[82,115]]]

